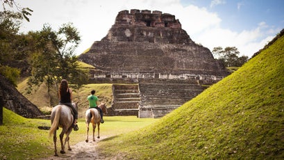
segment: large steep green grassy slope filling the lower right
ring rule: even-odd
[[[102,141],[122,159],[283,159],[284,36],[153,125]]]

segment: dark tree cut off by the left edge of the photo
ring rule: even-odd
[[[3,74],[15,86],[19,70],[15,61],[23,60],[24,35],[18,34],[22,17],[19,13],[4,10],[0,12],[0,74]]]

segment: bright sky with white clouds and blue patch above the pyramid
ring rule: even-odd
[[[54,30],[72,22],[81,35],[76,54],[108,34],[121,10],[160,10],[175,15],[182,29],[197,44],[237,47],[239,56],[253,56],[284,29],[283,0],[28,0],[21,7],[33,10],[21,32]]]

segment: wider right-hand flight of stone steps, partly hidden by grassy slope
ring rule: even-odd
[[[178,108],[206,87],[181,79],[140,80],[140,118],[161,118]]]

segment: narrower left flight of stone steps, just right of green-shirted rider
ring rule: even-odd
[[[113,101],[108,115],[138,116],[140,95],[137,84],[113,84]]]

